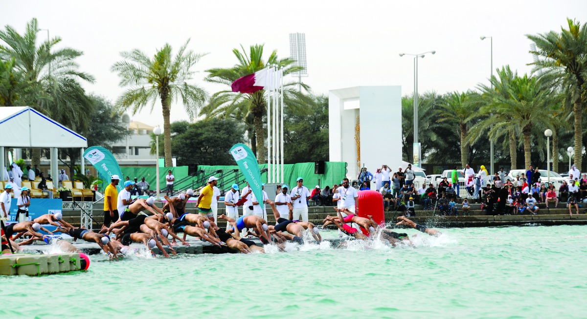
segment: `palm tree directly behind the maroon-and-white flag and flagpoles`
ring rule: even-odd
[[[231,114],[239,114],[239,120],[246,119],[248,114],[252,114],[255,127],[255,134],[249,134],[252,151],[257,154],[259,162],[265,162],[264,154],[266,154],[267,149],[265,148],[265,130],[263,129],[263,116],[266,115],[264,90],[256,91],[255,93],[237,93],[233,92],[230,86],[239,77],[255,73],[264,69],[267,65],[276,65],[282,68],[284,76],[300,72],[303,67],[295,66],[295,60],[289,57],[278,59],[276,50],[271,52],[271,55],[265,61],[263,59],[263,45],[251,46],[249,52],[242,46],[241,49],[242,52],[238,49],[232,50],[232,53],[237,57],[237,65],[230,69],[218,68],[206,71],[208,72],[208,76],[205,78],[206,81],[225,84],[228,87],[227,90],[213,94],[208,105],[202,108],[200,114],[207,117],[225,118],[231,117]],[[301,85],[306,91],[309,90],[309,87],[303,83],[284,83],[284,106],[296,107],[307,112],[309,107],[313,106],[314,101],[308,95],[298,91],[298,85]],[[257,145],[252,142],[253,138],[255,138]]]

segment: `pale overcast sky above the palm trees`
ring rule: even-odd
[[[60,36],[62,46],[82,50],[80,69],[96,77],[87,91],[115,101],[123,89],[110,66],[119,52],[138,48],[154,55],[165,43],[174,48],[191,38],[189,48],[207,52],[193,82],[208,93],[204,70],[231,67],[231,50],[265,44],[289,56],[289,33],[306,34],[309,77],[314,93],[352,86],[400,85],[413,91],[413,59],[399,53],[436,50],[419,62],[419,91],[474,89],[494,69],[509,64],[530,72],[528,33],[560,30],[566,18],[587,22],[587,1],[5,1],[2,25],[23,32],[37,18],[39,28]],[[40,35],[45,38],[45,33]],[[163,124],[160,104],[131,116]],[[171,121],[184,119],[181,105]]]

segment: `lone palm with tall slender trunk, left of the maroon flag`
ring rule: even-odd
[[[194,71],[191,68],[197,63],[202,53],[194,53],[186,50],[190,43],[188,39],[177,51],[176,56],[171,52],[171,46],[166,45],[157,51],[151,59],[139,49],[130,52],[121,52],[124,60],[114,63],[112,71],[120,77],[119,85],[129,87],[116,101],[119,108],[132,107],[133,114],[150,105],[153,111],[157,99],[161,100],[163,108],[163,134],[165,165],[171,163],[171,103],[181,101],[190,120],[197,114],[198,109],[204,105],[207,93],[188,83],[193,78]]]

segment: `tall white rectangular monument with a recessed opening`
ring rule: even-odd
[[[351,181],[363,165],[373,174],[383,164],[396,172],[402,165],[402,87],[330,90],[328,99],[330,161],[347,162]]]

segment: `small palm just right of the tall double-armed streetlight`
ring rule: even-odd
[[[458,125],[460,133],[461,147],[461,165],[465,167],[468,164],[469,150],[468,143],[465,141],[468,133],[469,123],[476,115],[477,107],[470,103],[469,97],[471,92],[453,92],[448,94],[444,102],[440,104],[437,116],[439,122],[450,121]]]

